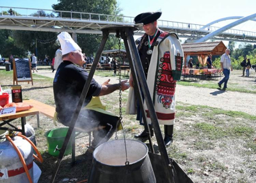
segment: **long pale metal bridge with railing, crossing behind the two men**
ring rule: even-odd
[[[127,16],[6,6],[0,8],[0,29],[101,34],[100,29],[106,26],[134,26],[134,17]],[[8,12],[10,8],[12,15]],[[205,25],[185,22],[158,20],[157,23],[160,29],[175,32],[180,38],[189,38],[192,42],[200,39],[200,42],[205,42],[208,36],[207,40],[256,43],[256,32],[231,29],[232,26],[220,31],[221,28],[216,26],[205,28]],[[135,35],[142,34],[142,29],[135,33]]]

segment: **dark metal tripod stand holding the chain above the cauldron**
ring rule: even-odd
[[[129,58],[129,65],[131,68],[132,77],[134,79],[134,89],[136,91],[137,96],[139,96],[138,99],[140,102],[141,112],[143,115],[143,122],[147,123],[147,118],[146,118],[145,110],[143,107],[143,99],[141,97],[141,91],[143,92],[143,95],[145,96],[145,102],[147,104],[148,112],[150,113],[150,119],[152,121],[152,126],[153,126],[154,132],[156,134],[157,144],[159,147],[159,152],[161,154],[162,168],[163,168],[162,170],[159,170],[159,171],[163,171],[165,174],[166,179],[164,182],[169,182],[169,183],[174,182],[172,161],[170,162],[168,153],[167,153],[165,145],[164,145],[163,137],[161,134],[161,129],[159,127],[159,123],[158,123],[157,116],[156,116],[156,111],[154,109],[154,104],[152,102],[152,99],[150,98],[150,92],[148,90],[147,80],[145,78],[143,68],[141,65],[140,56],[138,54],[136,45],[134,43],[133,35],[134,35],[134,31],[136,31],[136,30],[137,30],[137,28],[134,28],[133,26],[113,26],[113,27],[108,27],[108,28],[102,29],[102,35],[103,35],[102,40],[100,42],[99,49],[95,56],[95,60],[93,61],[93,65],[90,70],[88,80],[86,81],[86,84],[84,84],[83,92],[81,93],[79,103],[77,104],[76,112],[74,113],[74,115],[72,117],[72,122],[70,123],[70,127],[68,129],[67,136],[65,138],[62,148],[60,149],[60,155],[58,156],[58,162],[56,164],[54,172],[52,173],[52,178],[51,178],[52,183],[54,182],[56,174],[58,173],[58,169],[60,168],[60,163],[61,163],[61,160],[65,153],[65,150],[67,148],[68,141],[71,138],[71,136],[74,135],[72,133],[74,133],[74,126],[76,124],[76,120],[79,115],[79,111],[81,110],[84,99],[88,93],[90,83],[92,81],[93,75],[97,68],[97,63],[99,61],[100,54],[102,53],[102,51],[104,49],[104,45],[106,44],[106,41],[108,40],[109,33],[116,33],[117,37],[120,36],[124,40],[127,57]],[[148,123],[147,123],[146,127],[148,128]],[[148,139],[150,142],[151,153],[154,154],[154,148],[152,145],[152,141],[150,139],[150,134],[148,134]]]

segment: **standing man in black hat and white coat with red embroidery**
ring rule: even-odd
[[[157,19],[159,19],[159,17],[161,17],[162,12],[147,12],[147,13],[141,13],[140,15],[137,15],[134,18],[134,23],[135,24],[143,24],[143,30],[145,31],[145,34],[139,38],[138,40],[136,40],[136,44],[138,45],[138,53],[140,55],[140,60],[141,60],[141,64],[143,67],[143,71],[145,74],[145,77],[147,78],[147,83],[158,83],[157,87],[154,86],[153,89],[154,91],[151,90],[152,96],[158,96],[159,100],[157,99],[156,101],[154,100],[153,97],[153,102],[154,102],[154,107],[156,109],[156,114],[157,114],[157,118],[159,120],[159,124],[163,124],[164,125],[164,144],[167,146],[172,144],[173,141],[173,123],[174,123],[174,119],[175,119],[175,97],[174,97],[174,91],[175,91],[175,79],[173,79],[174,77],[172,77],[172,70],[171,69],[167,69],[166,71],[164,71],[163,73],[164,76],[160,76],[156,73],[156,69],[158,69],[158,58],[157,58],[157,48],[159,47],[159,44],[161,42],[163,42],[163,40],[167,37],[171,37],[171,40],[174,39],[177,40],[177,35],[171,35],[170,33],[166,33],[161,31],[158,27],[157,27]],[[171,41],[170,41],[171,42]],[[175,41],[176,44],[177,41]],[[179,40],[178,40],[179,42]],[[180,44],[180,43],[177,43]],[[157,47],[157,48],[155,48]],[[183,51],[181,48],[181,45],[178,46],[179,50],[177,51],[175,49],[170,51],[168,48],[164,48],[166,49],[166,52],[164,52],[164,54],[162,55],[162,57],[164,58],[163,63],[161,63],[161,67],[163,67],[163,65],[167,66],[168,68],[172,68],[171,67],[171,61],[170,61],[170,52],[173,52],[173,54],[177,54],[177,52],[179,52],[179,58],[180,58],[180,53],[182,53],[183,56]],[[161,47],[159,47],[161,49]],[[156,49],[156,50],[155,50]],[[161,53],[161,51],[159,51],[159,53]],[[169,55],[169,58],[168,58]],[[167,56],[167,57],[166,57]],[[166,57],[166,58],[165,58]],[[150,63],[151,62],[151,63]],[[175,62],[175,60],[174,60]],[[181,63],[182,66],[182,63]],[[153,67],[153,68],[152,68]],[[167,68],[166,67],[166,68]],[[160,70],[164,70],[166,69],[163,67],[160,68]],[[180,68],[179,68],[180,70]],[[159,71],[161,72],[161,71]],[[180,72],[181,73],[181,72]],[[161,74],[163,75],[163,74]],[[160,76],[160,77],[159,77]],[[164,81],[161,82],[159,79],[159,81],[157,81],[157,78],[171,78],[172,81],[170,81],[168,83],[168,81]],[[179,80],[179,79],[178,79]],[[165,84],[164,84],[165,83]],[[129,80],[129,84],[130,86],[134,86],[133,83],[133,79],[132,79],[132,75],[130,77]],[[163,85],[161,85],[163,84]],[[150,84],[148,84],[148,88],[150,89]],[[166,85],[166,86],[164,86]],[[162,89],[160,90],[159,88],[163,88],[165,87],[166,90],[163,91],[167,91],[167,93],[164,93],[162,91]],[[169,88],[168,88],[169,87]],[[161,92],[162,91],[162,92]],[[169,92],[170,91],[170,92]],[[151,94],[150,92],[150,94]],[[156,93],[155,93],[156,92]],[[172,95],[171,95],[172,94]],[[138,103],[138,102],[137,102]],[[163,109],[163,113],[162,113],[162,109],[161,107],[159,107],[159,103],[161,103],[161,107],[164,108]],[[140,111],[140,106],[137,105],[137,120],[140,120],[140,123],[142,122],[142,116],[141,116],[141,111]],[[148,110],[147,110],[147,105],[145,105],[145,112],[147,113],[147,121],[148,123],[151,123],[150,120],[150,114],[148,114]],[[172,113],[170,113],[170,110],[168,111],[168,109],[170,109],[171,107],[174,106],[174,112],[172,111]],[[129,109],[127,109],[127,113],[129,113]],[[168,112],[166,112],[166,110]],[[141,123],[143,124],[143,123]],[[152,129],[152,125],[149,125],[150,127],[150,136],[154,136],[154,131]],[[144,129],[143,132],[141,132],[141,134],[137,134],[134,137],[135,138],[145,138],[148,136],[148,131],[147,129]]]

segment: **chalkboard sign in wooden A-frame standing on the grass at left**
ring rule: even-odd
[[[19,82],[31,81],[33,85],[33,79],[31,74],[31,63],[28,58],[15,59],[13,61],[13,84]]]

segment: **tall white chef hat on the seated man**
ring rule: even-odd
[[[58,35],[58,39],[60,41],[62,55],[81,49],[67,32],[61,32],[60,35]]]

